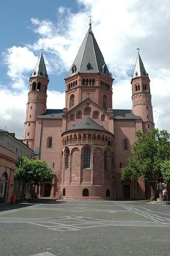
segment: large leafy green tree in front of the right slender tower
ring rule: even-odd
[[[157,196],[157,183],[162,181],[162,165],[170,159],[170,134],[152,129],[149,134],[138,131],[138,140],[132,145],[132,156],[122,169],[122,179],[136,180],[142,177]]]

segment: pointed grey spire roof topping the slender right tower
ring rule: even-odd
[[[139,47],[137,48],[137,50],[138,50],[137,60],[134,66],[132,78],[141,77],[141,76],[146,77],[148,76],[148,73],[146,72],[145,67],[143,66],[143,62],[139,54],[139,50],[140,50]]]

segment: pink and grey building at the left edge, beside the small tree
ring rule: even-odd
[[[10,203],[13,194],[20,199],[22,182],[14,181],[15,165],[19,157],[31,158],[33,154],[33,150],[16,139],[14,133],[0,129],[0,203]]]

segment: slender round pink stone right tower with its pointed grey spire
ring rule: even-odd
[[[137,48],[137,60],[132,75],[132,111],[143,120],[143,132],[149,132],[154,128],[154,118],[151,105],[150,79],[145,70]]]

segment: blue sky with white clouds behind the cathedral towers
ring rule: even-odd
[[[47,108],[62,109],[65,81],[89,28],[112,72],[113,108],[131,109],[137,47],[150,78],[155,126],[170,132],[169,0],[2,0],[0,129],[21,139],[29,77],[41,49],[49,84]]]

